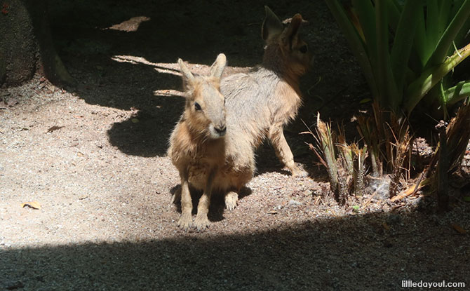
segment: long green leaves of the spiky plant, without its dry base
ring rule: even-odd
[[[325,1],[381,109],[409,116],[419,102],[452,105],[470,95],[470,80],[445,79],[470,55],[462,43],[470,0],[351,0],[350,9]]]

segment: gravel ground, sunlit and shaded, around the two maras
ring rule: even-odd
[[[0,109],[0,290],[402,290],[402,280],[463,282],[431,290],[470,290],[468,166],[445,214],[424,195],[397,204],[365,196],[351,203],[358,211],[325,195],[325,172],[304,144],[308,137],[297,134],[300,119],[310,124],[321,109],[347,120],[351,100],[367,93],[323,1],[270,5],[281,17],[307,11],[313,22],[306,37],[316,69],[302,83],[300,118],[286,129],[310,177],[290,177],[265,144],[239,206],[229,212],[215,197],[208,231],[180,231],[180,209],[170,203],[179,178],[166,156],[184,102],[175,60],[210,64],[222,51],[226,74],[255,65],[262,5],[243,11],[239,4],[234,19],[217,16],[228,20],[214,36],[204,24],[182,21],[214,15],[207,7],[168,2],[171,14],[144,2],[102,1],[84,19],[84,6],[51,8],[53,35],[77,86],[62,90],[36,77],[0,92],[8,101]],[[123,19],[103,20],[100,9]],[[137,32],[135,21],[106,29],[142,15],[151,20]],[[190,30],[191,49],[174,33],[181,29]],[[159,41],[167,36],[173,39]],[[33,201],[41,209],[22,207]]]

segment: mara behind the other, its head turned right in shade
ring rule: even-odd
[[[266,6],[262,25],[265,41],[262,65],[248,74],[223,79],[220,88],[227,99],[227,125],[236,130],[239,140],[253,148],[268,137],[279,160],[292,175],[304,175],[294,163],[283,126],[295,118],[302,103],[300,76],[307,72],[312,56],[299,36],[302,15],[296,14],[287,27]]]

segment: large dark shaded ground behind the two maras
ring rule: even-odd
[[[341,118],[347,119],[342,109],[350,106],[342,100],[351,96],[338,92],[354,95],[353,84],[363,82],[324,1],[51,0],[49,12],[53,39],[78,83],[77,95],[89,104],[137,109],[142,114],[140,123],[130,119],[115,123],[108,131],[109,141],[126,154],[163,156],[183,104],[181,97],[158,93],[180,90],[178,68],[168,72],[168,66],[175,65],[178,57],[210,65],[221,52],[229,66],[257,65],[263,52],[264,5],[281,19],[302,13],[310,20],[302,31],[316,63],[301,84],[304,107],[291,126],[293,134],[286,133],[303,145],[297,135],[305,130],[300,119],[311,125],[320,108],[327,116],[341,112]],[[145,62],[119,62],[116,56],[140,57]],[[323,107],[327,102],[331,106]]]

